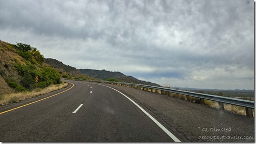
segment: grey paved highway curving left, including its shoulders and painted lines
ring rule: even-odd
[[[133,88],[68,82],[65,89],[0,107],[0,141],[254,141],[254,120],[244,116]]]

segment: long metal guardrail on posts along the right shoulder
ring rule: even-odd
[[[220,109],[224,109],[224,103],[231,104],[231,105],[237,105],[237,106],[246,108],[247,117],[253,117],[252,109],[254,109],[254,101],[228,98],[228,97],[222,97],[222,96],[216,96],[216,95],[208,95],[208,94],[195,93],[195,92],[182,91],[182,90],[175,90],[175,89],[168,89],[168,88],[163,88],[163,87],[141,85],[141,84],[109,82],[109,81],[89,81],[89,80],[75,80],[75,81],[86,81],[86,82],[105,83],[105,84],[118,84],[118,85],[124,85],[124,86],[142,87],[142,88],[147,88],[147,89],[151,89],[151,90],[155,89],[155,90],[160,90],[160,91],[164,91],[164,92],[176,93],[176,94],[186,95],[187,99],[190,99],[190,97],[200,98],[202,104],[204,104],[204,99],[219,102]]]

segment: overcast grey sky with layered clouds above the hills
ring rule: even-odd
[[[0,39],[171,87],[254,89],[253,1],[0,0]]]

